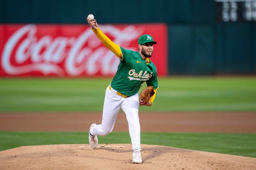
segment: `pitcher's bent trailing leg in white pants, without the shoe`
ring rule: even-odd
[[[123,100],[121,96],[110,92],[109,88],[106,89],[102,122],[90,129],[91,136],[106,136],[113,130]]]

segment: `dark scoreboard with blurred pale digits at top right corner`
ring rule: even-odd
[[[215,0],[218,22],[256,22],[256,0]]]

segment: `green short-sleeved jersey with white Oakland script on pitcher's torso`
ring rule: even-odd
[[[123,59],[120,60],[116,75],[111,82],[111,87],[117,92],[132,96],[139,92],[140,87],[146,82],[148,86],[158,88],[156,66],[150,61],[147,64],[139,52],[120,47]]]

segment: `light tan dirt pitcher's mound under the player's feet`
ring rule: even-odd
[[[0,169],[256,169],[256,158],[142,144],[142,164],[131,144],[22,146],[0,152]]]

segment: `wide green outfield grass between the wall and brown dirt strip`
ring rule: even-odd
[[[153,106],[140,111],[256,111],[256,78],[158,79]],[[102,111],[110,82],[110,78],[2,78],[0,113]]]

